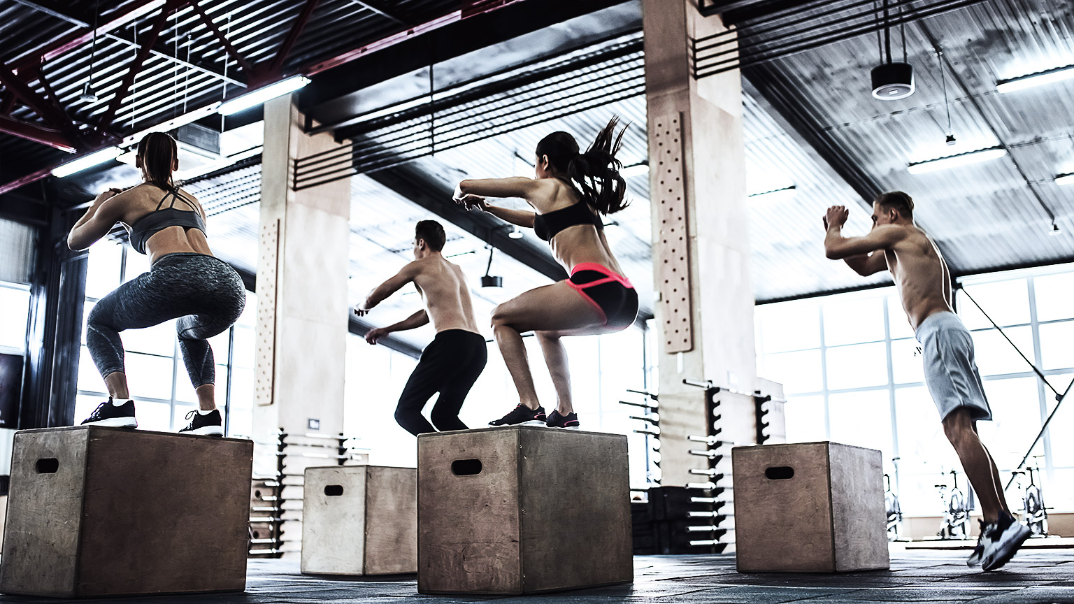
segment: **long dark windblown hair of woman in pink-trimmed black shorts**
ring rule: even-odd
[[[579,153],[578,141],[567,132],[552,132],[537,143],[537,157],[547,155],[549,163],[601,214],[614,214],[629,205],[623,201],[626,181],[619,175],[623,163],[615,159],[626,128],[616,136],[618,125],[619,117],[608,120],[585,153]]]

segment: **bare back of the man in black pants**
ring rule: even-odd
[[[412,265],[418,268],[413,284],[436,332],[461,329],[480,334],[463,270],[439,255],[415,260]]]

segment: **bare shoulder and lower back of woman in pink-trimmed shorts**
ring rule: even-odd
[[[542,183],[547,183],[541,191],[545,195],[534,196],[529,200],[537,214],[548,214],[580,203],[578,193],[558,178],[542,178]],[[593,225],[567,227],[556,233],[549,245],[552,247],[552,255],[568,272],[582,262],[595,262],[623,274],[611,254],[604,231]]]

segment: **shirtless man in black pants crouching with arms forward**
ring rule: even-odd
[[[411,282],[425,301],[425,310],[365,334],[366,342],[376,344],[393,331],[419,328],[430,318],[433,320],[436,337],[422,350],[421,360],[410,374],[395,407],[395,421],[415,436],[437,430],[466,430],[466,425],[459,419],[459,411],[489,358],[484,336],[474,321],[466,275],[440,253],[446,240],[439,222],[418,222],[413,240],[415,261],[380,284],[369,292],[365,302],[354,307],[354,313],[363,316]],[[421,415],[421,409],[435,392],[440,396],[433,405],[430,414],[433,421],[430,423]]]

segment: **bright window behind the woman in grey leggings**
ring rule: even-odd
[[[90,248],[75,421],[85,419],[108,396],[86,347],[85,321],[98,300],[148,270],[148,257],[117,242],[102,240]],[[256,298],[247,292],[246,310],[235,326],[209,340],[217,363],[216,404],[226,417],[228,435],[250,434],[256,313]],[[137,404],[139,428],[176,431],[186,426],[186,415],[198,408],[198,397],[183,364],[175,321],[127,330],[121,337],[128,387]]]

